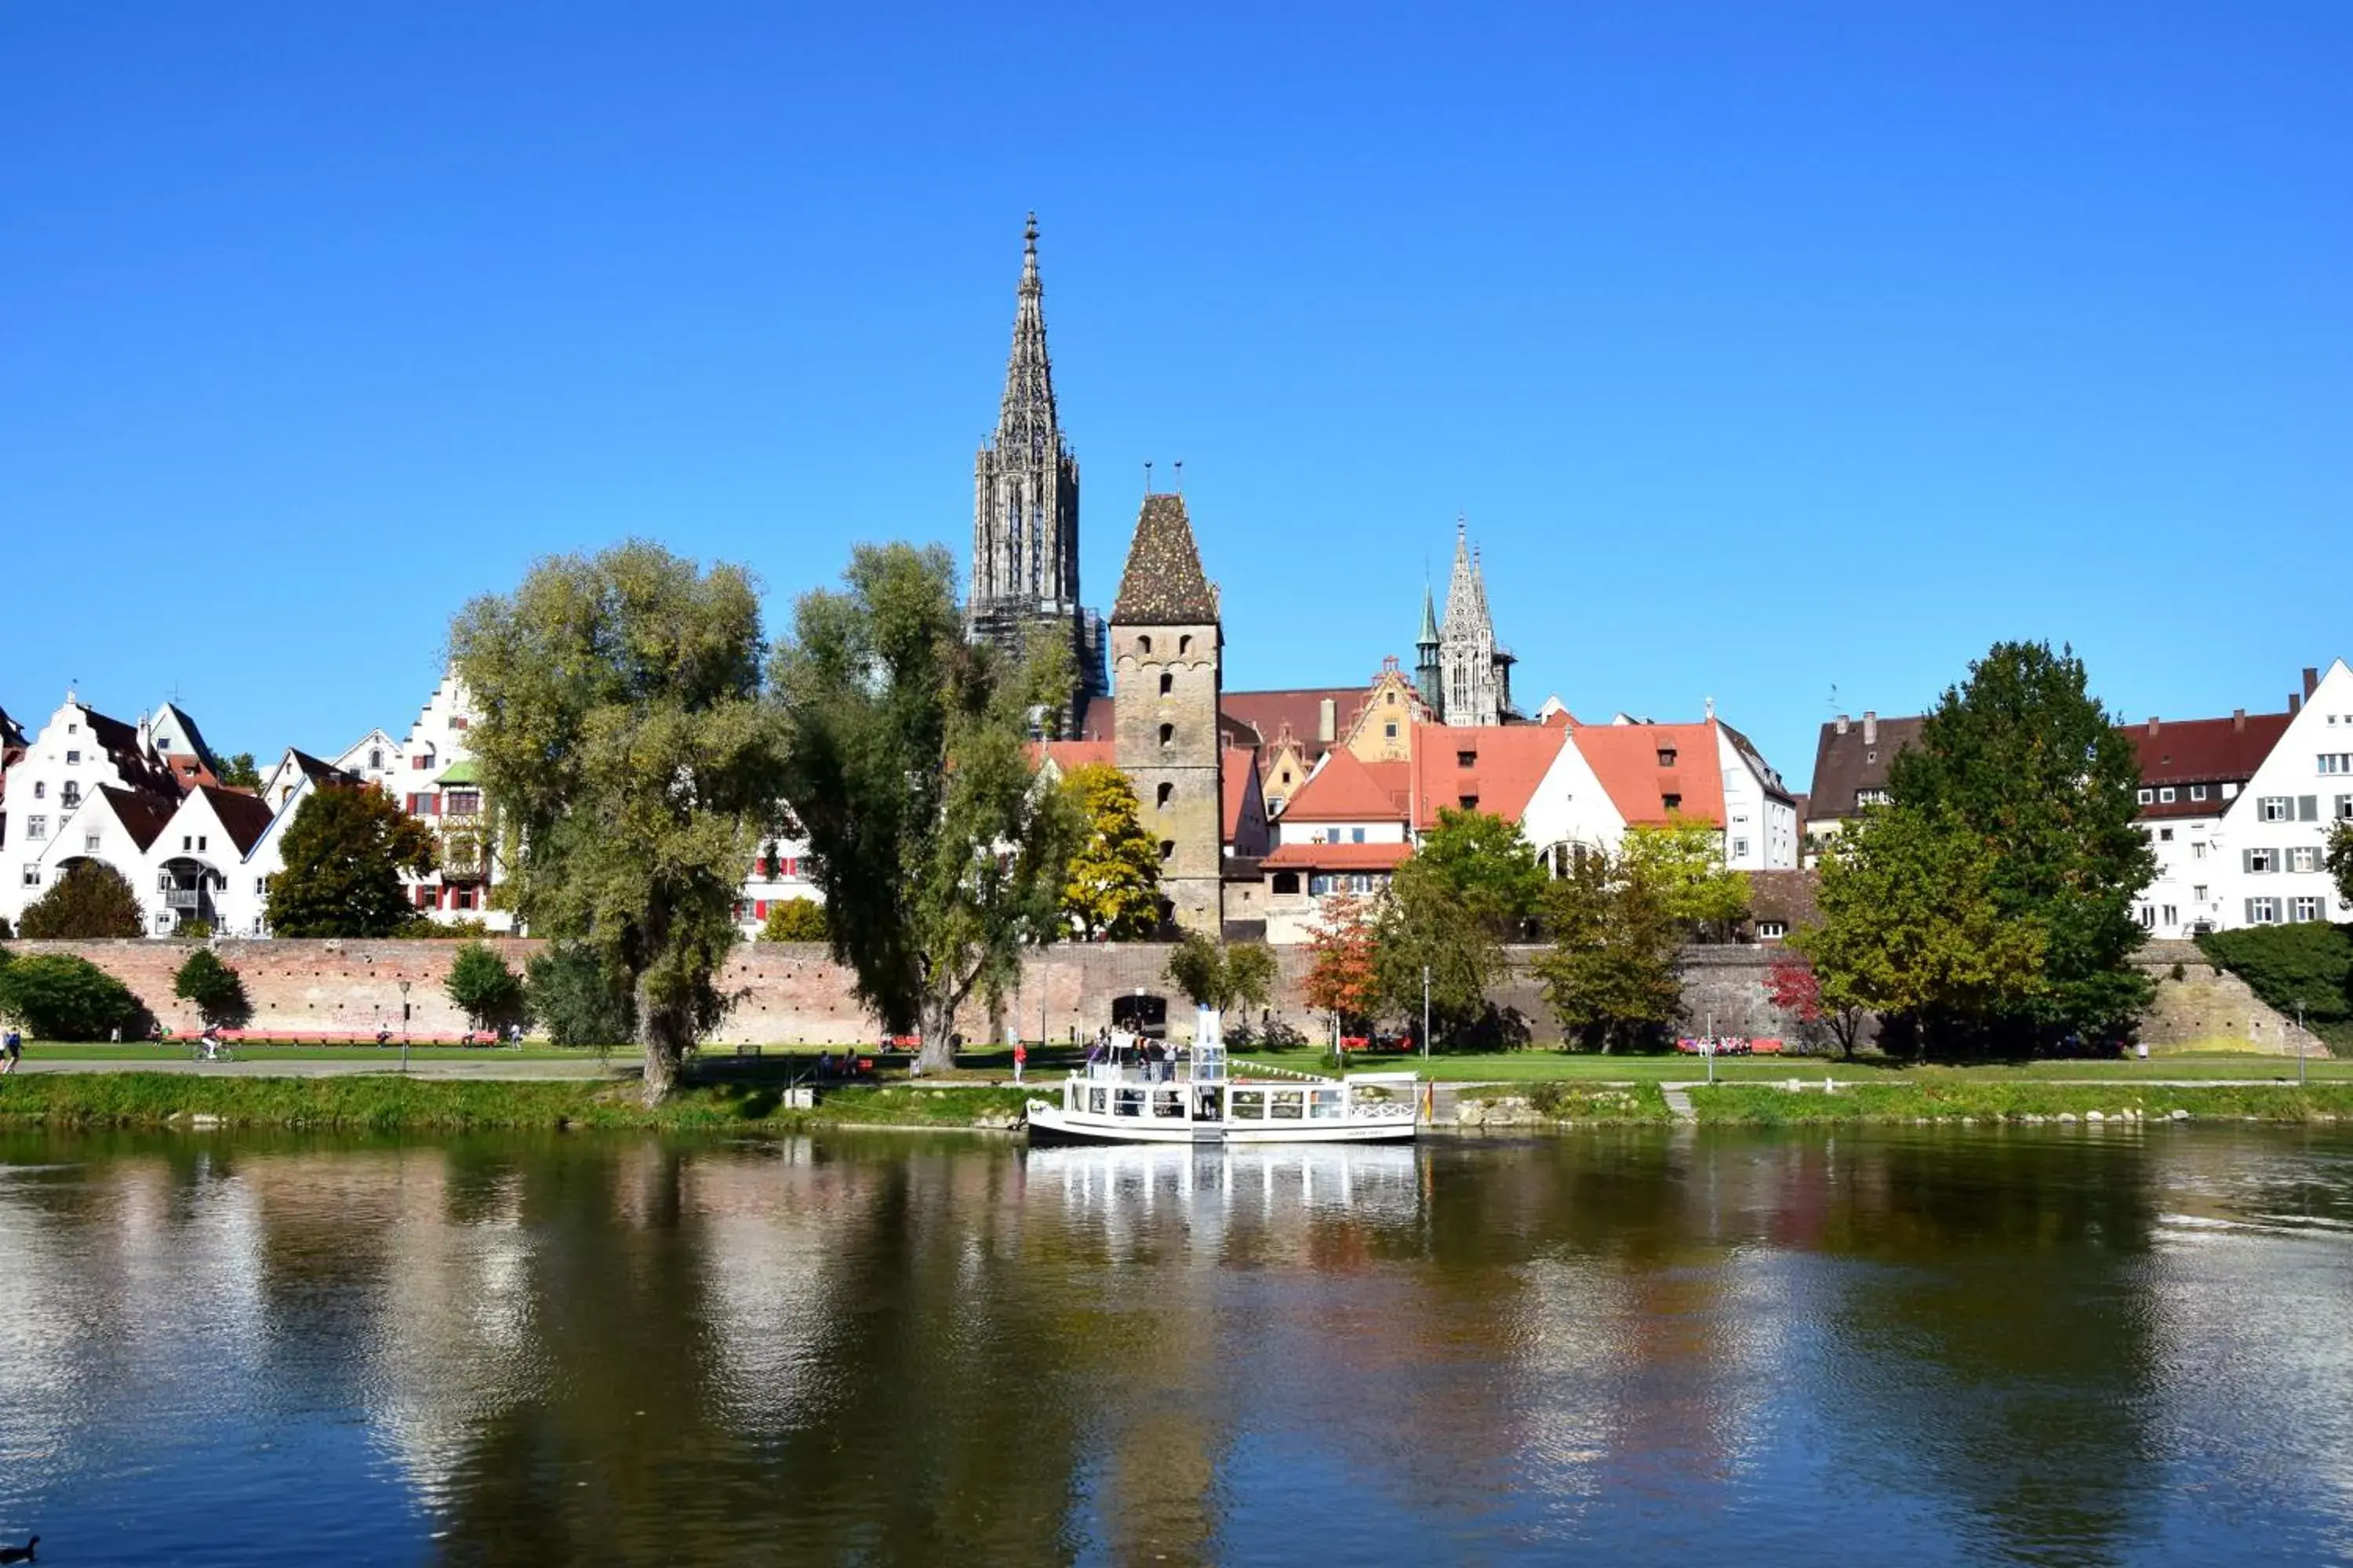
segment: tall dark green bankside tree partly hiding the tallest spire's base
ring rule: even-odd
[[[953,1060],[955,1009],[1000,999],[1021,943],[1066,929],[1085,825],[1024,748],[1068,691],[1068,654],[1038,637],[1007,663],[965,637],[941,548],[859,545],[842,583],[802,595],[776,651],[786,797],[835,957],[887,1030],[922,1034],[929,1072]]]

